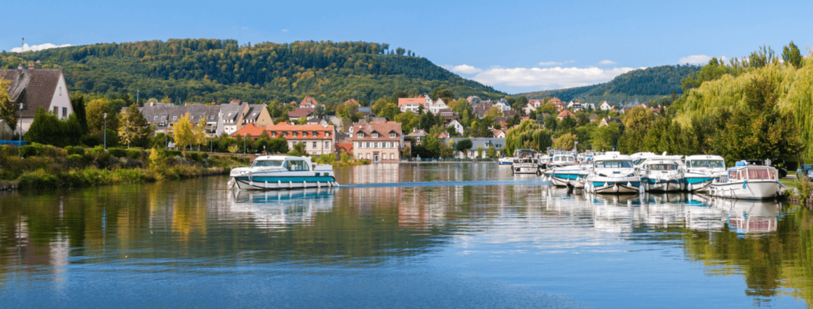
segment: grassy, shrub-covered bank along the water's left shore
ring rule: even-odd
[[[247,158],[179,150],[0,146],[0,187],[57,189],[177,180],[225,174],[233,165],[248,163]]]

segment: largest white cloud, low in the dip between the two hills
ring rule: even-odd
[[[534,87],[539,90],[572,88],[610,81],[615,76],[635,70],[633,67],[514,67],[489,68],[472,78],[485,85]]]

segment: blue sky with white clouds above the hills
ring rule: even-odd
[[[641,67],[813,46],[813,1],[140,1],[4,5],[0,50],[170,38],[371,41],[509,94],[593,85]],[[18,17],[19,16],[19,17]]]

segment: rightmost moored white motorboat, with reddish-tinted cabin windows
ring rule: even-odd
[[[764,165],[736,163],[719,179],[711,181],[709,194],[721,198],[767,199],[780,193],[779,172]]]

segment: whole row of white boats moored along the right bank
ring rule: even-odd
[[[501,159],[500,163],[510,163],[515,174],[537,174],[552,185],[591,194],[688,191],[723,198],[767,199],[776,198],[781,186],[776,168],[746,161],[726,168],[719,155],[567,150],[542,155],[534,150],[516,150],[513,158]]]

